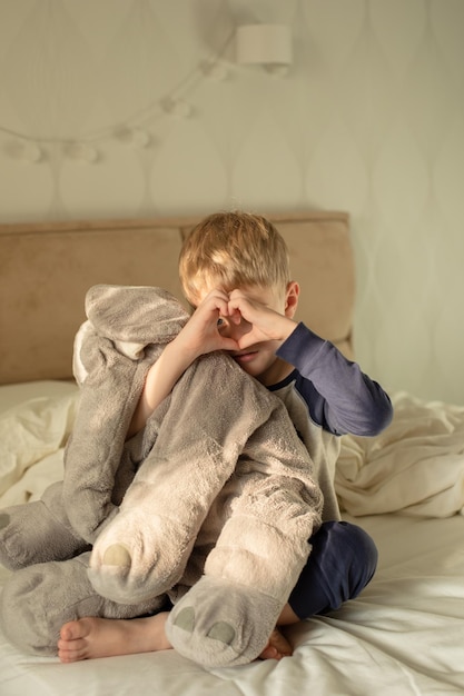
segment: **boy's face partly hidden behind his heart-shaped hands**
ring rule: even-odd
[[[201,294],[201,301],[213,288],[207,288]],[[277,289],[261,288],[258,286],[240,288],[244,295],[249,298],[263,312],[276,312],[280,316],[289,316],[287,307],[288,291],[278,291]],[[294,311],[292,311],[293,316]],[[220,317],[218,320],[218,331],[227,338],[238,341],[245,334],[251,331],[253,325],[244,317],[238,322],[230,321],[227,317]],[[275,340],[264,340],[255,342],[243,350],[233,350],[230,355],[245,372],[251,375],[264,385],[276,384],[284,378],[282,374],[282,360],[279,360],[275,351],[278,344]]]

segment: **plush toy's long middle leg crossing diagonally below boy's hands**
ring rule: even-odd
[[[89,577],[98,593],[141,601],[179,580],[213,500],[277,404],[226,356],[190,366],[119,514],[95,543]]]

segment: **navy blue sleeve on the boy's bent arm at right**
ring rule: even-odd
[[[328,340],[298,324],[277,356],[310,381],[309,410],[336,435],[374,436],[392,421],[388,395]]]

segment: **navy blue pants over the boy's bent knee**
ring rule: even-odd
[[[323,523],[288,603],[299,618],[327,614],[357,597],[372,579],[377,549],[369,535],[346,521]]]

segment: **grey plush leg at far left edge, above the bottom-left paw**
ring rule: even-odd
[[[0,510],[0,563],[16,570],[36,563],[63,560],[87,550],[69,524],[62,483],[49,486],[41,500]]]

